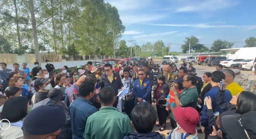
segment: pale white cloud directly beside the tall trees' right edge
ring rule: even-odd
[[[134,23],[144,23],[148,21],[156,21],[162,18],[165,18],[166,15],[125,15],[121,16],[120,19],[122,20],[123,24],[134,24]]]

